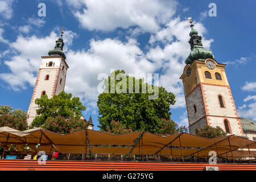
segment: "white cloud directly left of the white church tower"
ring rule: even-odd
[[[15,55],[4,62],[11,72],[1,73],[0,78],[14,90],[26,89],[27,84],[34,86],[41,63],[40,56],[47,55],[49,49],[54,48],[57,38],[55,32],[44,38],[35,35],[18,36],[16,41],[10,44],[11,51],[8,51],[15,52]]]

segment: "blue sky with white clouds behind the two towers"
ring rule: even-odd
[[[46,4],[46,17],[38,4]],[[210,17],[210,3],[217,16]],[[159,73],[159,85],[176,96],[171,118],[188,125],[183,85],[190,46],[188,16],[226,74],[240,117],[256,121],[256,2],[176,0],[0,0],[0,105],[27,110],[41,57],[65,27],[69,65],[65,91],[79,96],[97,122],[97,76],[110,69]]]

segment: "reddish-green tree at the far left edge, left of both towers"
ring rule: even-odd
[[[15,130],[24,131],[28,129],[27,112],[13,109],[11,106],[0,106],[0,127],[7,126]]]

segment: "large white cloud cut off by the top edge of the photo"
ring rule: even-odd
[[[138,26],[156,32],[175,14],[175,0],[66,0],[83,28],[113,31]]]

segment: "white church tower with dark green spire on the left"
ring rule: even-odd
[[[51,98],[55,94],[64,91],[68,64],[65,61],[66,56],[63,52],[62,36],[63,31],[61,32],[61,38],[56,40],[55,48],[48,52],[49,56],[42,56],[34,92],[28,107],[28,125],[32,123],[37,115],[36,109],[38,109],[38,105],[35,104],[36,98],[40,98],[44,94]]]

